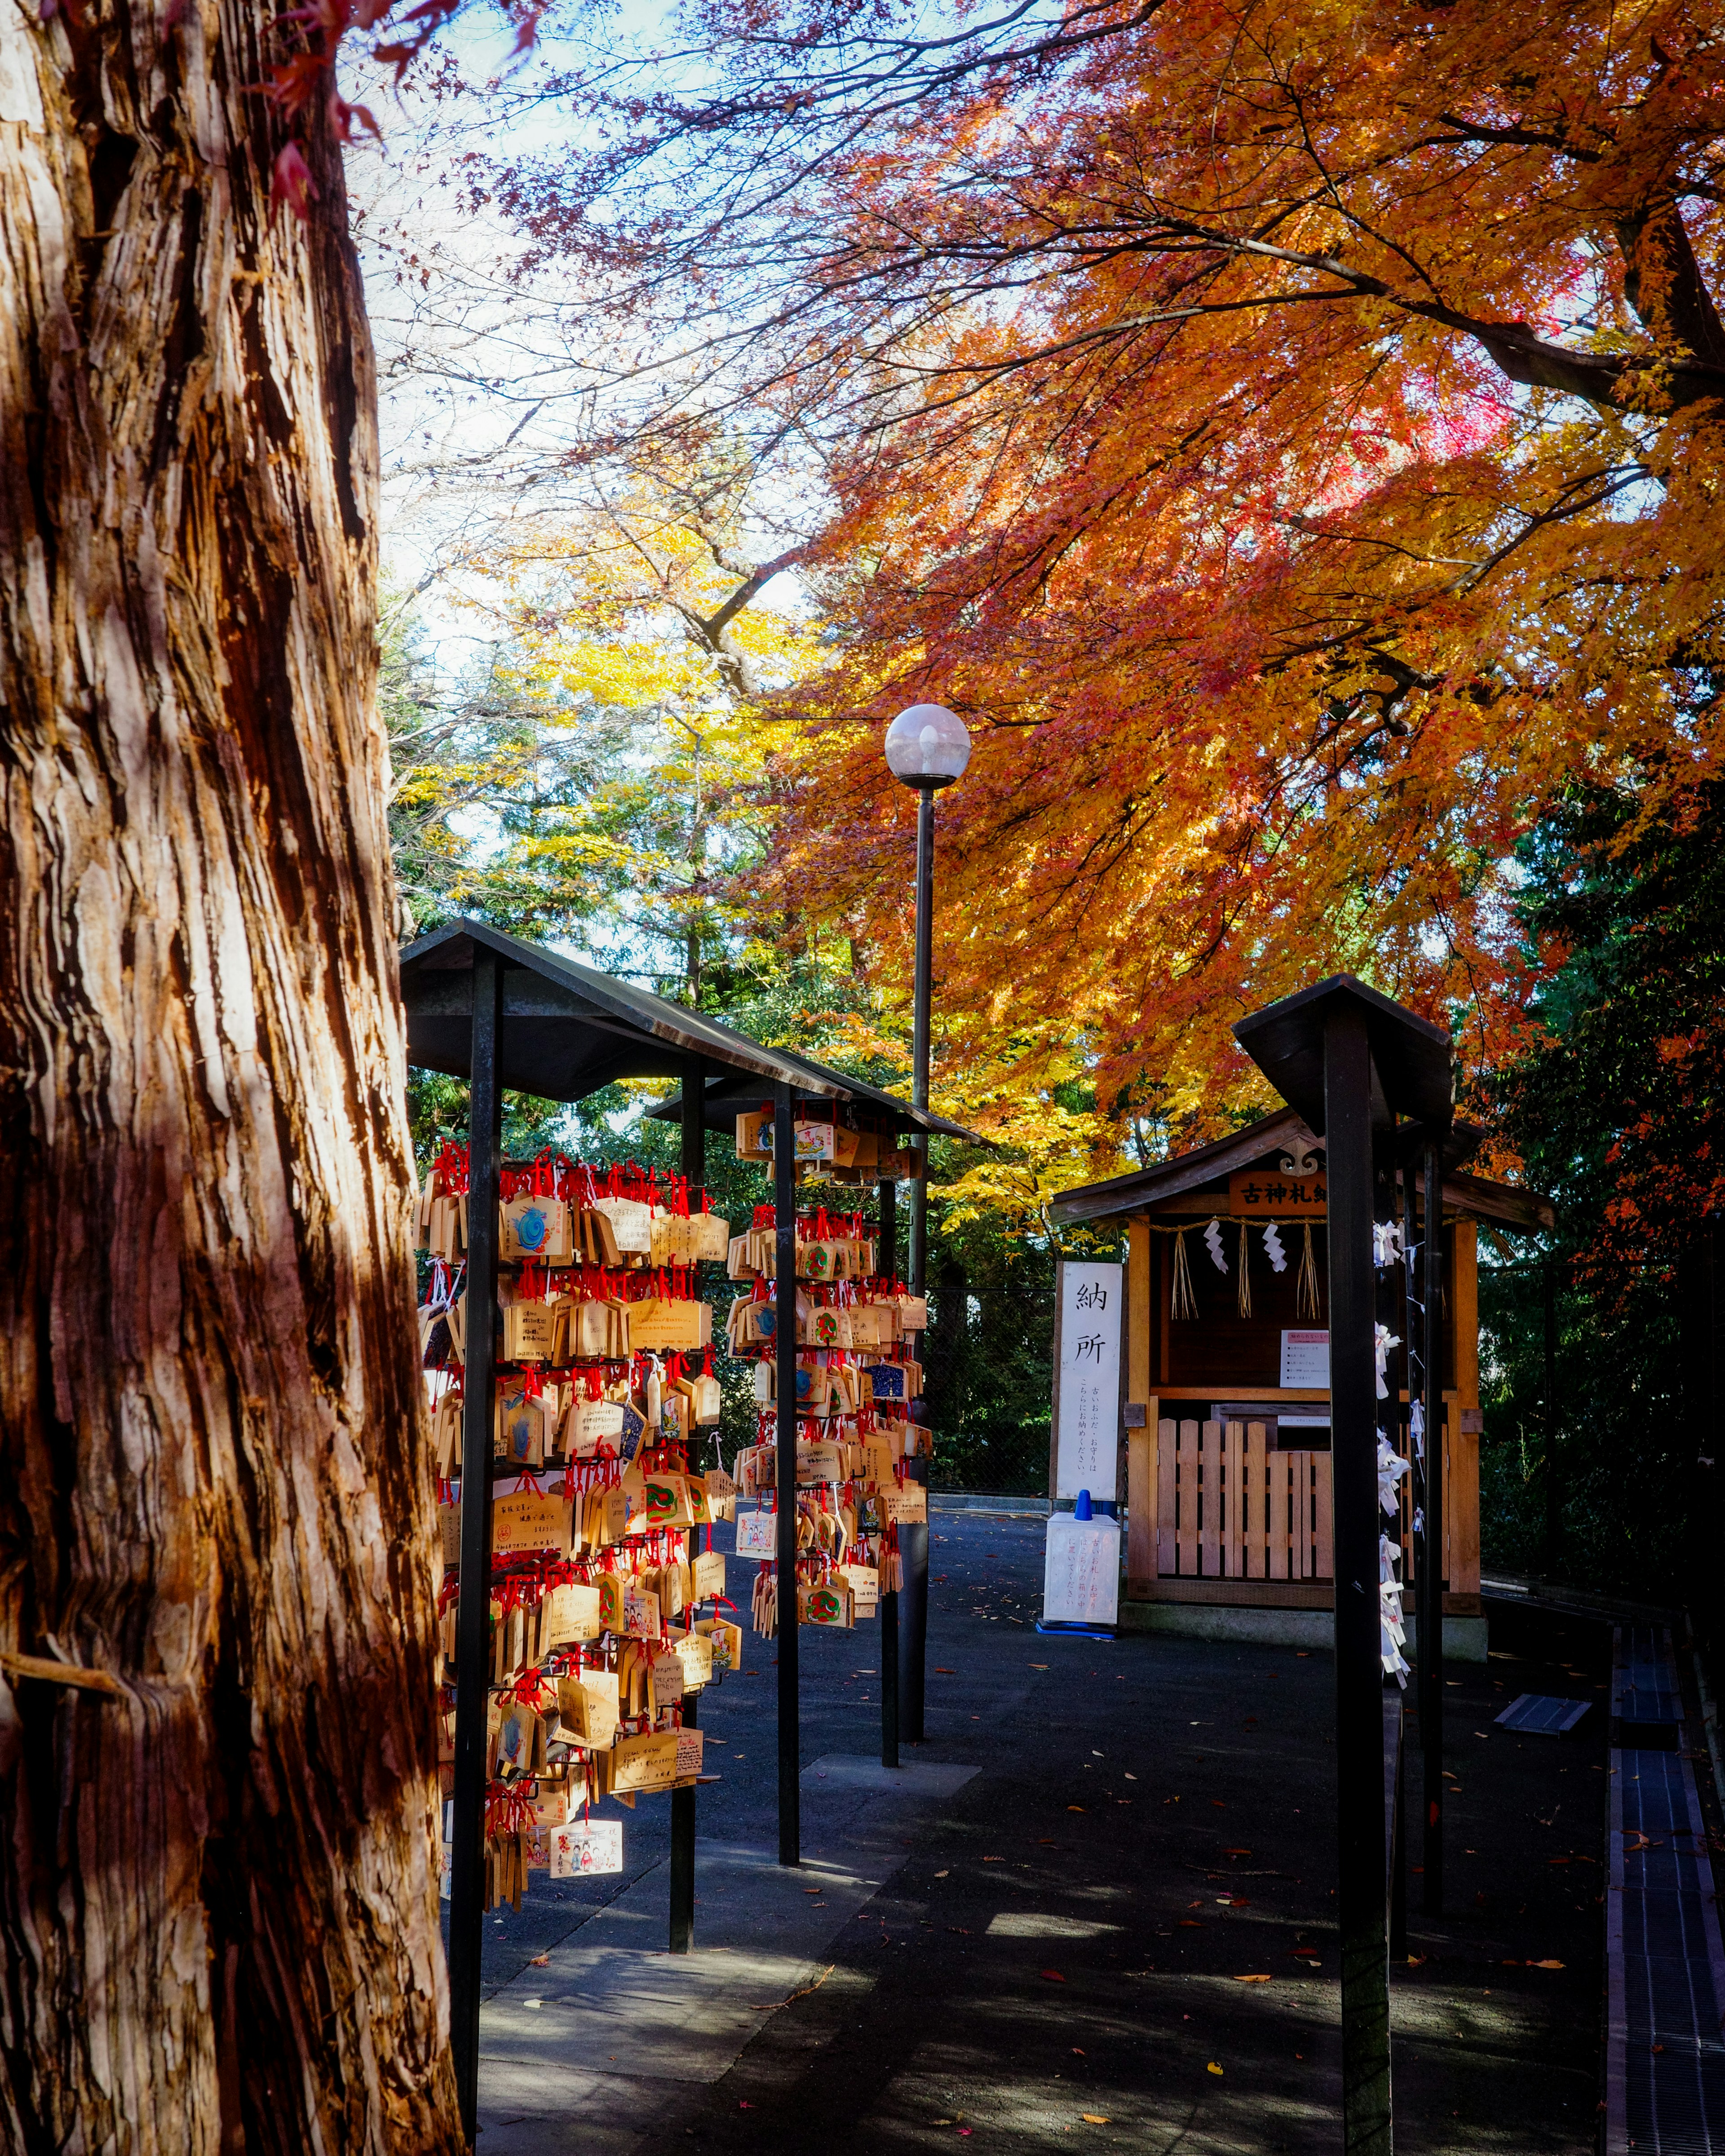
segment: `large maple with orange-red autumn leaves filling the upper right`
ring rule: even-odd
[[[845,636],[796,699],[783,888],[901,946],[878,722],[934,696],[979,733],[942,800],[953,1106],[1076,1065],[1201,1123],[1231,1020],[1343,966],[1490,1065],[1518,837],[1578,772],[1656,819],[1716,755],[1716,22],[699,22],[686,93],[502,183],[666,326],[699,278],[709,395],[819,444]]]

